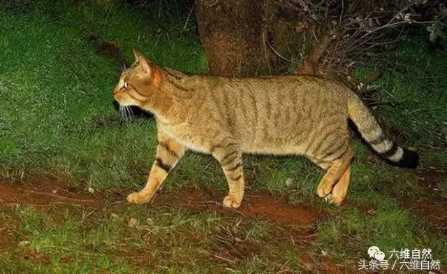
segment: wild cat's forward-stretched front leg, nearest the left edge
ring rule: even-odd
[[[183,145],[170,138],[159,136],[155,161],[149,172],[146,186],[140,192],[133,192],[127,196],[127,201],[136,204],[142,204],[149,201],[166,177],[168,177],[169,171],[171,171],[175,165],[177,165],[179,159],[183,157],[184,151],[185,148]]]

